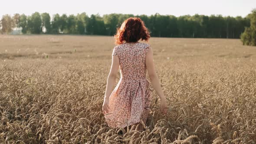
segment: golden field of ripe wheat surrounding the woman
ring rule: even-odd
[[[148,43],[169,111],[161,115],[151,85],[139,132],[109,128],[103,117],[113,37],[0,35],[0,143],[256,143],[256,47],[239,39]]]

